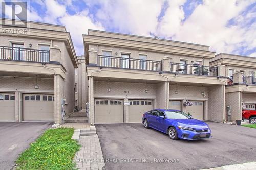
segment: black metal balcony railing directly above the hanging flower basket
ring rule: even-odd
[[[208,67],[203,65],[190,65],[171,62],[170,72],[218,77],[218,69],[216,67]]]

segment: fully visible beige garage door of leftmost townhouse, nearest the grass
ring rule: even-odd
[[[24,121],[53,121],[54,95],[23,94]]]

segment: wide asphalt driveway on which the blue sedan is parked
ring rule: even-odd
[[[256,129],[208,124],[212,138],[196,141],[171,140],[142,123],[98,124],[96,132],[106,169],[203,169],[256,161]]]

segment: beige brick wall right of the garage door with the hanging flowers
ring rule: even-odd
[[[225,87],[223,85],[208,87],[208,119],[223,122],[225,109]]]

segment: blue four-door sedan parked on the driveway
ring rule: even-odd
[[[211,130],[205,122],[191,118],[180,110],[155,109],[143,114],[145,128],[154,128],[173,140],[197,140],[211,138]]]

